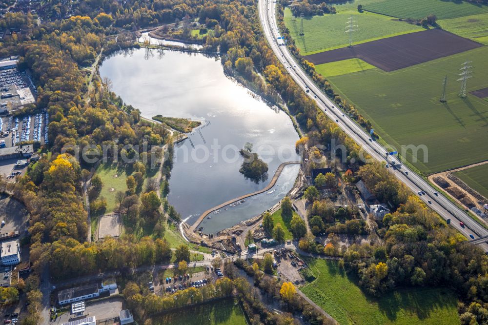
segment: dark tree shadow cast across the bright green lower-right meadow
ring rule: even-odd
[[[380,312],[390,321],[397,320],[399,312],[416,315],[423,321],[438,309],[454,304],[452,298],[452,294],[446,289],[415,287],[397,289],[381,298],[370,299],[378,303]]]

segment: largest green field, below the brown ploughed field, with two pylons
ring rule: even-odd
[[[488,71],[488,47],[480,47],[405,69],[384,72],[370,69],[330,77],[341,97],[348,99],[388,144],[402,154],[401,145],[425,145],[417,162],[407,159],[421,172],[434,172],[477,163],[488,151],[488,102],[468,95],[457,96],[459,68],[472,61],[473,78],[468,92],[488,87],[483,71]],[[447,103],[438,101],[447,75]],[[347,96],[345,95],[347,94]]]

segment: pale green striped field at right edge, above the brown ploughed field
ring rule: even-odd
[[[439,20],[437,23],[448,32],[488,45],[488,13]]]

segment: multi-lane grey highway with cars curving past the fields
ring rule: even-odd
[[[278,30],[276,21],[276,1],[259,0],[259,17],[261,25],[263,26],[264,36],[278,57],[279,61],[285,66],[286,70],[295,82],[307,93],[312,100],[314,100],[322,111],[335,123],[341,127],[346,134],[357,142],[364,151],[372,158],[378,161],[386,161],[386,148],[375,141],[370,140],[370,136],[358,124],[344,114],[311,80],[311,78],[303,71],[299,63],[295,60],[293,55],[288,51],[283,39]],[[436,190],[427,183],[422,177],[411,171],[407,166],[401,165],[401,162],[392,156],[388,156],[388,165],[392,166],[394,163],[400,168],[390,168],[391,172],[403,183],[405,183],[414,193],[424,191],[425,194],[420,195],[420,199],[436,211],[445,220],[450,219],[450,225],[462,233],[466,238],[479,238],[488,235],[488,230],[482,225],[471,219],[465,211],[450,202],[442,194],[434,194]],[[429,203],[430,201],[430,203]],[[460,222],[464,225],[461,226]],[[488,252],[488,244],[479,244],[485,252]]]

